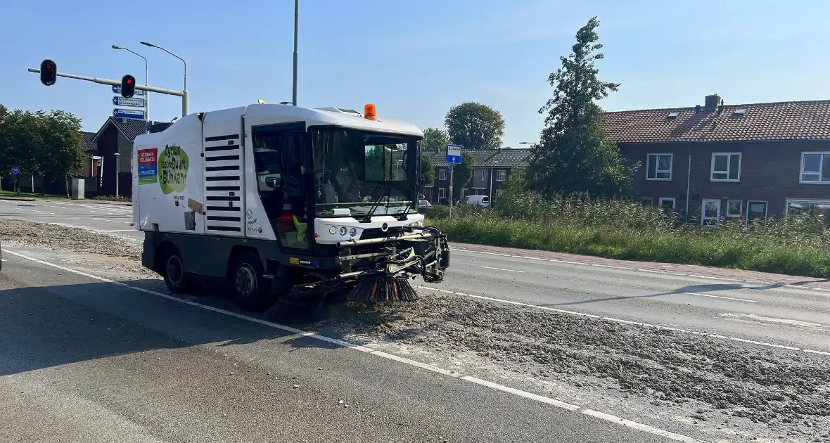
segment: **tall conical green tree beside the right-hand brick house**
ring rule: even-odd
[[[559,57],[562,67],[548,81],[554,96],[539,110],[548,112],[540,143],[534,147],[528,176],[545,194],[588,192],[610,196],[632,187],[638,164],[627,166],[616,144],[604,139],[600,127],[602,110],[596,101],[616,91],[619,83],[598,80],[595,61],[603,45],[596,28],[597,17],[576,33],[573,52]]]

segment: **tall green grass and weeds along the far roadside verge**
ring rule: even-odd
[[[429,222],[452,241],[710,265],[789,275],[830,276],[830,231],[808,215],[754,222],[722,220],[702,228],[637,202],[505,193],[495,208],[432,210]]]

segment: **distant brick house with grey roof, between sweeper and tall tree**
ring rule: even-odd
[[[493,200],[496,200],[507,178],[510,177],[510,173],[516,169],[526,168],[530,158],[530,149],[522,148],[464,150],[463,152],[472,158],[473,174],[465,187],[453,187],[453,201],[461,200],[468,195],[492,196]],[[432,160],[432,166],[435,167],[435,182],[427,183],[422,193],[429,202],[443,202],[448,197],[450,189],[450,165],[447,164],[447,152],[444,149],[438,149],[424,152],[423,155]]]

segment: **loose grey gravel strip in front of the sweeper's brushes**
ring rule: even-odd
[[[789,423],[830,416],[830,359],[539,310],[422,294],[414,304],[332,309],[315,324],[344,337],[471,351],[540,377],[612,379],[657,404],[706,402]],[[563,377],[560,377],[563,378]]]

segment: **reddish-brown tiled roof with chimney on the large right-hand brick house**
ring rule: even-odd
[[[830,139],[830,100],[606,112],[603,129],[622,143]]]

